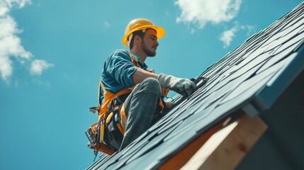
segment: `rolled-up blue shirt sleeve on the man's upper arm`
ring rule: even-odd
[[[116,79],[118,84],[126,87],[134,85],[133,74],[137,67],[130,60],[130,56],[123,50],[113,52],[106,63],[106,72],[108,76]]]

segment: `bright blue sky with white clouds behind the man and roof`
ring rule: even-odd
[[[134,18],[167,30],[150,69],[192,78],[300,2],[0,0],[0,169],[93,163],[84,131],[97,115],[88,108]]]

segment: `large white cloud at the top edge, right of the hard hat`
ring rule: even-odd
[[[177,0],[181,15],[176,22],[193,23],[203,29],[206,23],[231,21],[237,16],[242,0]]]

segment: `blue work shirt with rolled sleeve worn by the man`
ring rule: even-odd
[[[137,57],[138,64],[142,69],[147,69],[147,64],[140,62],[139,57],[131,52],[134,57]],[[106,91],[117,94],[119,91],[134,86],[133,74],[137,70],[128,52],[125,50],[116,50],[103,64],[101,74],[101,82]],[[101,90],[99,103],[103,101],[103,91]]]

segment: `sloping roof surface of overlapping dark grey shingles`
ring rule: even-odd
[[[271,107],[304,68],[304,3],[252,35],[199,77],[208,82],[123,151],[102,155],[88,169],[157,169],[211,125],[237,109]]]

